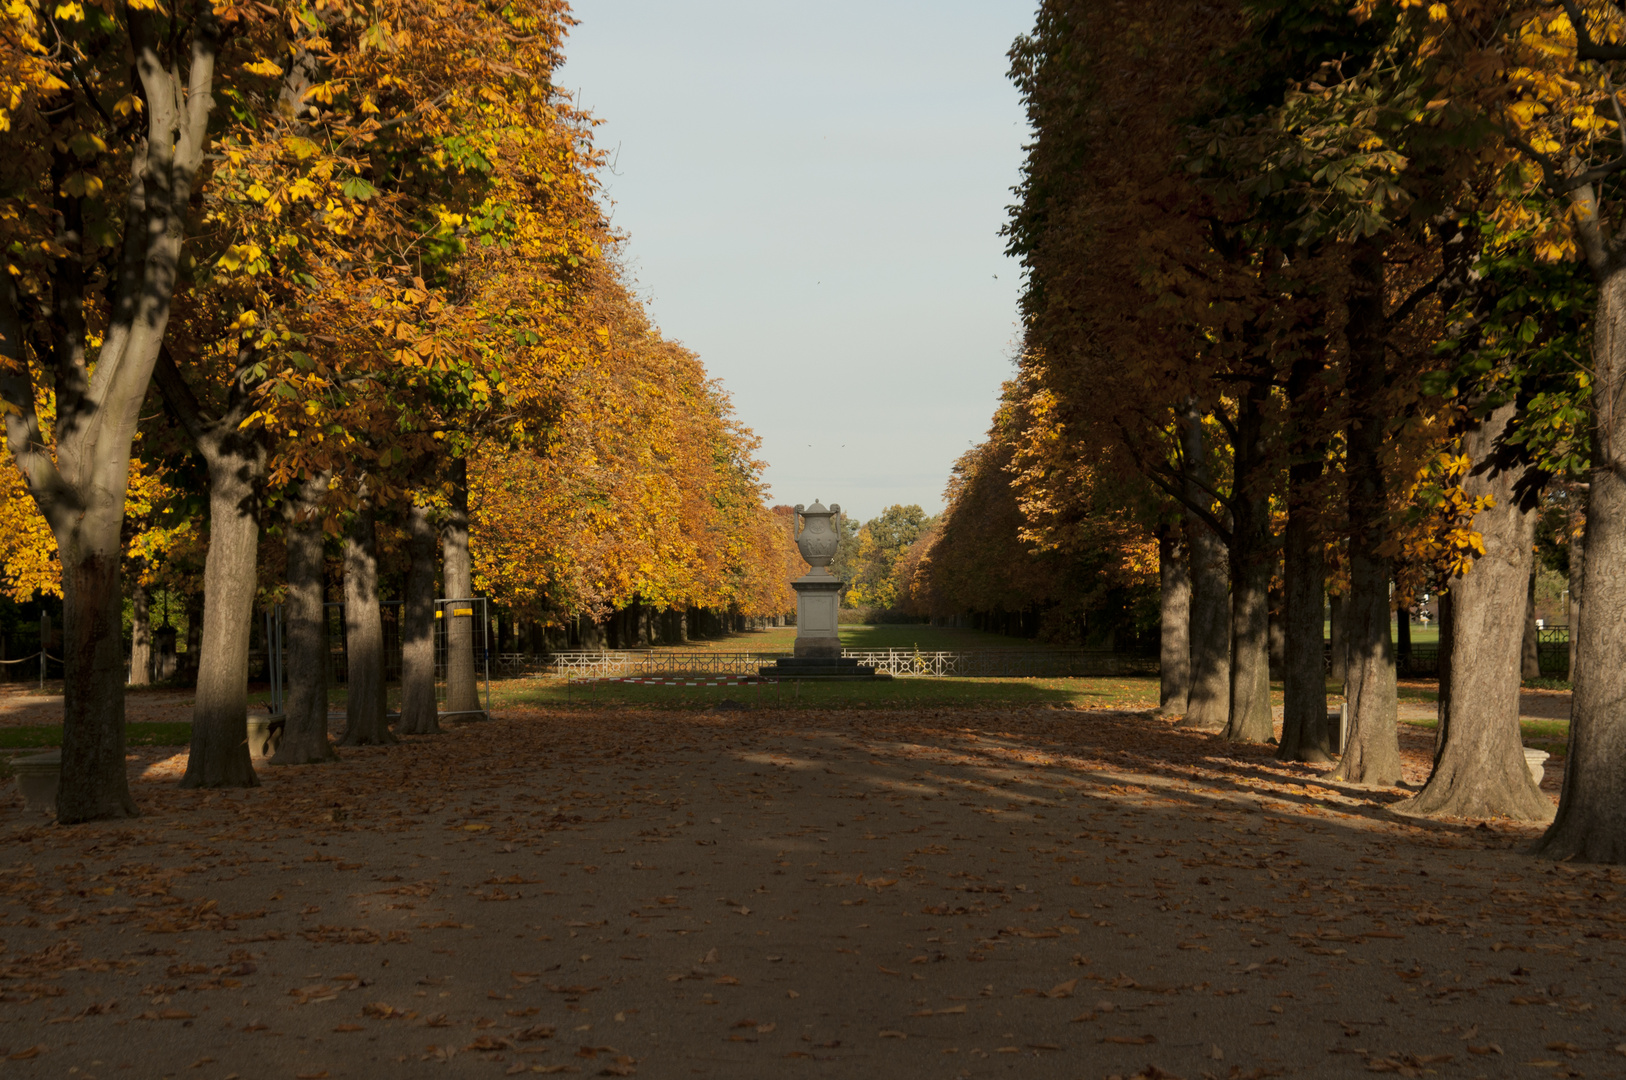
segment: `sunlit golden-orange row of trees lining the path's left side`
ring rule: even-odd
[[[267,600],[286,603],[293,683],[278,760],[332,756],[335,551],[345,743],[393,738],[380,551],[402,564],[405,732],[434,727],[437,590],[545,621],[789,607],[753,438],[618,267],[592,119],[551,81],[564,0],[24,2],[0,20],[5,564],[15,592],[60,581],[59,820],[135,812],[128,569],[141,607],[143,584],[202,566],[192,786],[255,782]],[[470,628],[450,621],[449,708],[467,711]]]

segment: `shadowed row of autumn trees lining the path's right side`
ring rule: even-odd
[[[1392,784],[1392,613],[1442,594],[1436,763],[1402,810],[1546,820],[1517,717],[1548,512],[1585,603],[1540,851],[1626,857],[1621,42],[1613,0],[1046,0],[1011,52],[1026,348],[927,600],[989,566],[1068,590],[1080,551],[1094,587],[1158,568],[1164,706],[1265,742],[1275,582],[1278,753],[1317,761],[1330,592],[1337,776]]]

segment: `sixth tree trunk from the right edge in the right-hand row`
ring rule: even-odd
[[[1202,420],[1193,413],[1185,423],[1185,460],[1192,478],[1187,498],[1210,498],[1198,480],[1203,468]],[[1229,589],[1226,586],[1224,542],[1197,514],[1185,516],[1185,550],[1192,574],[1192,691],[1180,727],[1218,732],[1226,725],[1231,708],[1231,628]]]

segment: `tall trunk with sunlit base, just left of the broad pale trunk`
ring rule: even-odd
[[[1389,483],[1384,477],[1387,366],[1384,265],[1374,244],[1351,257],[1356,293],[1348,319],[1350,701],[1348,745],[1333,773],[1353,784],[1400,781],[1395,646],[1389,638]]]

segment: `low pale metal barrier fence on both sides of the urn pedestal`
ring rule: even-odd
[[[961,652],[919,649],[842,649],[844,657],[886,675],[958,678],[1080,678],[1156,675],[1158,657],[1086,649],[971,649]],[[554,652],[541,673],[569,678],[623,678],[693,672],[707,675],[756,675],[787,652],[678,652],[615,651]],[[519,668],[517,662],[512,665]],[[499,670],[504,665],[499,662]]]

